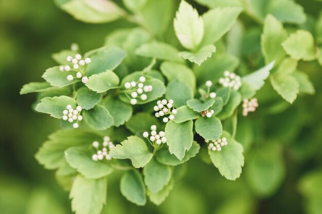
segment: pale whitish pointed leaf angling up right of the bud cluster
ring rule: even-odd
[[[253,73],[243,76],[242,81],[249,84],[253,89],[259,90],[265,84],[264,80],[269,77],[270,71],[273,67],[274,61]]]

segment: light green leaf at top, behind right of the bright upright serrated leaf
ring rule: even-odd
[[[205,33],[201,45],[213,44],[220,40],[235,24],[241,11],[241,8],[225,7],[214,8],[204,13],[202,18],[205,25]]]

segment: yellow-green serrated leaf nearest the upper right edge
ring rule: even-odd
[[[284,50],[295,60],[311,61],[316,59],[314,38],[309,31],[298,30],[282,43]]]

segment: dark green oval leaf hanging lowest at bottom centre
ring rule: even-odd
[[[137,170],[126,171],[120,182],[122,195],[130,202],[144,206],[147,203],[146,188]]]

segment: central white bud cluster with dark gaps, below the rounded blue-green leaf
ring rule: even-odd
[[[169,100],[169,102],[166,99],[159,100],[156,102],[156,106],[153,107],[153,110],[156,111],[154,114],[156,118],[165,116],[162,119],[165,123],[168,123],[169,120],[172,121],[174,119],[174,114],[176,114],[176,109],[173,107],[173,100]]]

